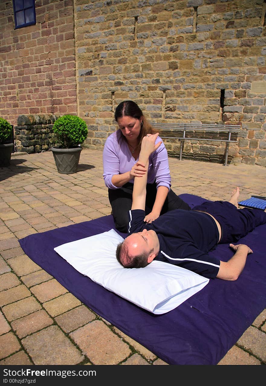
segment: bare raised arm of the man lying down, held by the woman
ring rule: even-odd
[[[138,158],[138,163],[145,167],[147,170],[142,177],[134,178],[133,186],[133,197],[132,197],[132,206],[131,209],[142,209],[145,210],[146,202],[146,185],[147,185],[147,175],[148,175],[148,166],[149,166],[149,156],[155,150],[158,149],[162,141],[158,142],[155,145],[155,141],[159,133],[156,134],[147,134],[142,139],[142,146],[140,150],[140,156]]]

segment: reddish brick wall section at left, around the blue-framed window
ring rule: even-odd
[[[0,2],[0,115],[77,114],[72,0],[36,0],[36,25],[14,29],[12,0]]]

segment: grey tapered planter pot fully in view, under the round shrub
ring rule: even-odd
[[[73,174],[77,173],[78,162],[82,147],[74,147],[73,149],[59,149],[57,147],[51,147],[55,164],[58,173],[61,174]]]

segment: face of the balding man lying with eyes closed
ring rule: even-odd
[[[128,247],[128,253],[131,256],[137,256],[145,252],[148,254],[152,249],[152,254],[155,256],[159,253],[159,239],[157,234],[152,229],[143,229],[142,232],[133,233],[132,235],[126,237],[125,241]]]

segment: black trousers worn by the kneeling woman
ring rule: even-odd
[[[145,214],[152,211],[153,204],[156,198],[156,183],[147,184],[146,186],[146,205]],[[108,189],[109,201],[112,207],[112,214],[116,229],[120,232],[128,232],[128,211],[132,205],[133,184],[126,183],[119,189]],[[174,209],[190,210],[189,205],[176,195],[172,190],[168,192],[161,215]]]

